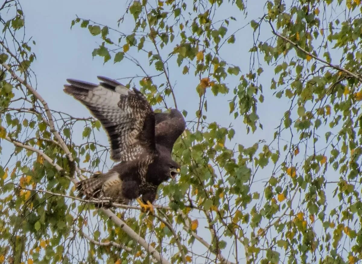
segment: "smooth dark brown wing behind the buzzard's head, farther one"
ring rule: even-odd
[[[172,152],[176,139],[184,132],[186,122],[184,116],[177,109],[171,109],[170,113],[155,114],[155,141]]]

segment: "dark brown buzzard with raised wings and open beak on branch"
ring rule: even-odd
[[[108,198],[116,203],[137,201],[152,210],[157,187],[175,178],[180,165],[172,160],[176,139],[185,130],[177,109],[155,113],[141,92],[98,76],[99,85],[67,79],[64,92],[84,104],[107,132],[111,158],[119,161],[108,172],[94,174],[76,185],[81,197]]]

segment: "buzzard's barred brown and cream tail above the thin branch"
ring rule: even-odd
[[[102,193],[103,183],[108,179],[102,173],[93,174],[92,177],[78,182],[75,187],[78,191],[78,196],[87,199],[99,198]]]

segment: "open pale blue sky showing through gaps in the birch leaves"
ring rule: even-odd
[[[51,109],[61,110],[72,113],[77,117],[88,117],[89,112],[86,108],[76,102],[71,96],[63,92],[63,84],[66,79],[80,79],[83,81],[97,83],[97,75],[109,78],[124,78],[134,76],[135,72],[139,73],[132,63],[125,59],[121,63],[113,64],[113,60],[103,64],[103,58],[92,58],[92,51],[100,43],[99,37],[93,37],[88,29],[80,28],[79,24],[71,29],[71,21],[76,16],[89,18],[100,24],[109,25],[117,28],[117,20],[125,12],[123,1],[100,1],[78,0],[78,1],[22,1],[22,8],[25,13],[26,35],[32,37],[36,45],[32,51],[36,54],[37,59],[32,64],[32,70],[37,75],[37,89],[43,98],[48,102]],[[223,14],[237,17],[237,22],[232,22],[232,29],[241,28],[248,24],[251,19],[256,19],[263,14],[263,6],[260,1],[248,1],[248,17],[240,16],[241,12],[236,7],[226,8]],[[129,21],[132,23],[132,21]],[[127,23],[121,25],[121,31],[131,32],[132,26],[127,27]],[[227,48],[222,50],[223,58],[241,68],[243,73],[249,71],[250,53],[248,50],[252,47],[252,29],[248,25],[236,34],[234,45],[226,45]],[[264,40],[271,37],[270,28],[265,25],[261,28],[261,36]],[[262,58],[260,58],[262,61]],[[172,65],[170,63],[170,65]],[[265,66],[265,67],[264,67]],[[236,131],[235,139],[230,143],[240,143],[245,147],[252,146],[257,140],[264,139],[270,142],[273,137],[273,130],[280,122],[281,117],[286,111],[283,101],[276,99],[270,91],[270,80],[274,77],[274,66],[266,67],[261,84],[264,87],[263,95],[268,99],[268,103],[258,105],[258,115],[264,130],[258,129],[255,133],[246,133],[246,127],[242,118],[234,120],[229,115],[227,100],[233,97],[232,93],[227,96],[218,96],[215,98],[208,91],[208,122],[217,121],[219,124],[228,127],[233,125]],[[172,67],[174,67],[172,65]],[[189,75],[182,75],[181,70],[170,70],[172,72],[171,83],[175,84],[177,104],[179,110],[189,112],[186,120],[194,118],[194,112],[198,104],[195,88],[199,82],[190,70]],[[137,85],[137,83],[135,83]],[[237,80],[233,79],[229,83],[233,89],[237,85]],[[191,96],[190,96],[191,95]],[[171,102],[171,101],[169,101]],[[100,143],[107,144],[106,136],[100,132]],[[73,134],[74,136],[74,134]],[[81,140],[81,131],[76,138]],[[286,144],[286,143],[285,143]],[[260,179],[268,179],[270,175],[260,176]],[[264,183],[263,183],[264,185]],[[259,190],[260,191],[260,190]]]

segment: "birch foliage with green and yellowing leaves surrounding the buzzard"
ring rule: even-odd
[[[153,108],[178,107],[188,120],[173,150],[181,176],[160,188],[156,214],[125,206],[118,218],[171,263],[359,261],[361,1],[265,1],[257,19],[242,0],[154,4],[130,1],[118,28],[72,21],[101,41],[93,57],[134,63],[127,85],[136,81]],[[100,123],[52,111],[31,90],[35,42],[12,38],[25,25],[16,1],[0,12],[13,15],[0,18],[0,151],[11,146],[0,163],[0,263],[154,260],[75,198],[74,176],[106,170]],[[133,28],[121,32],[123,23]],[[248,51],[237,48],[245,37]],[[228,58],[233,49],[249,69]],[[182,78],[193,82],[187,95]],[[215,102],[232,124],[209,121]]]

